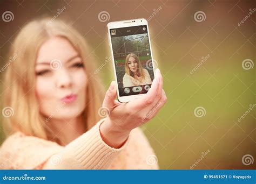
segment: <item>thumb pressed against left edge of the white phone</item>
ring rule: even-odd
[[[109,111],[112,110],[114,105],[114,100],[117,97],[116,84],[114,81],[111,82],[109,89],[106,91],[106,95],[102,104],[102,107],[106,107]]]

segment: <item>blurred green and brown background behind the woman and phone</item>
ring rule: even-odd
[[[246,154],[256,158],[255,109],[238,121],[255,107],[255,1],[1,1],[1,15],[14,13],[13,21],[0,20],[1,67],[26,22],[53,17],[63,6],[57,19],[68,20],[82,33],[98,67],[110,56],[108,22],[149,21],[153,58],[164,76],[168,102],[142,130],[161,169],[190,169],[208,150],[193,169],[256,168],[255,161],[242,162]],[[104,21],[99,18],[103,11],[109,13]],[[114,79],[112,63],[97,75],[107,89]],[[203,107],[202,117],[194,112],[198,107]],[[2,130],[0,135],[3,141]]]

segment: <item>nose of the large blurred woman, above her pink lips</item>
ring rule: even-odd
[[[56,73],[56,86],[57,88],[69,88],[72,85],[70,74],[65,69],[58,69]]]

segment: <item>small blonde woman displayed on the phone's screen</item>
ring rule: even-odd
[[[125,87],[151,84],[149,72],[140,66],[139,58],[136,54],[128,54],[125,59],[125,74],[123,85]]]

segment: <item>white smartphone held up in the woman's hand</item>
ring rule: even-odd
[[[144,18],[107,24],[119,102],[140,98],[154,79],[149,26]]]

